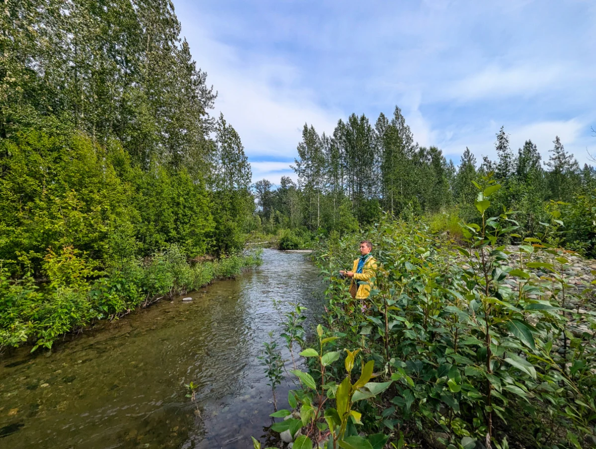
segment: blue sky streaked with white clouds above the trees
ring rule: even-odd
[[[401,107],[421,145],[459,162],[555,135],[596,153],[596,1],[173,0],[197,66],[219,92],[253,179],[276,184],[304,123]]]

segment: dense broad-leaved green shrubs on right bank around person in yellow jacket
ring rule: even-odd
[[[596,281],[578,285],[568,274],[576,258],[559,246],[558,209],[538,238],[501,244],[521,238],[521,228],[511,210],[489,215],[502,186],[490,177],[481,183],[480,225],[462,224],[461,246],[425,222],[386,216],[321,249],[328,327],[303,346],[309,373],[294,371],[303,391],[289,400],[299,416],[274,431],[302,428],[315,446],[327,439],[328,449],[376,447],[383,435],[379,448],[387,436],[397,448],[421,439],[449,449],[593,446]],[[359,304],[337,273],[363,238],[377,243],[378,270],[370,300]],[[343,348],[353,350],[336,363]]]

